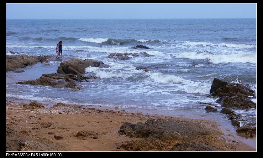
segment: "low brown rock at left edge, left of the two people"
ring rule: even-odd
[[[13,71],[16,68],[25,68],[29,65],[34,65],[38,59],[27,55],[7,55],[6,56],[6,71]]]

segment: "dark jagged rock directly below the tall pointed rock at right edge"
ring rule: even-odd
[[[256,103],[242,95],[219,97],[217,103],[220,103],[222,107],[232,107],[234,109],[256,109]]]

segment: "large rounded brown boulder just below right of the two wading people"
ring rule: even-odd
[[[92,59],[82,59],[74,58],[68,61],[63,61],[60,63],[57,72],[59,74],[83,74],[85,73],[85,69],[89,66],[91,67],[100,67],[104,63],[98,60]]]

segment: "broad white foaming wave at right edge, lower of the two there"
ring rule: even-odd
[[[208,59],[214,64],[218,63],[252,63],[257,64],[257,54],[211,54],[184,52],[176,55],[177,58]]]

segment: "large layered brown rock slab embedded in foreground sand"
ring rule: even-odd
[[[147,120],[146,123],[126,122],[118,131],[135,140],[121,146],[128,151],[222,151],[223,141],[198,122],[185,120]]]

